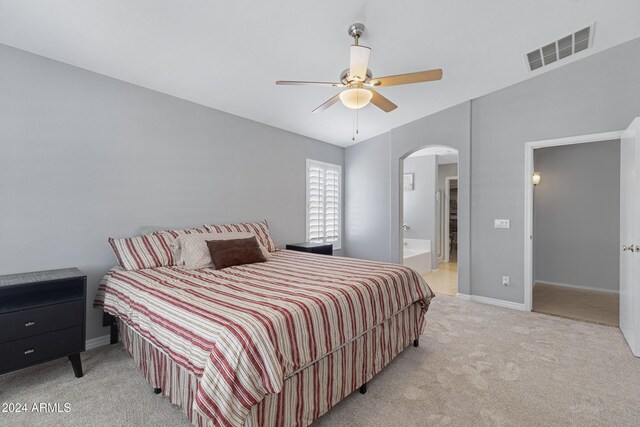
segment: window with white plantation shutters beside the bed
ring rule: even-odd
[[[341,247],[342,167],[307,159],[307,240]]]

